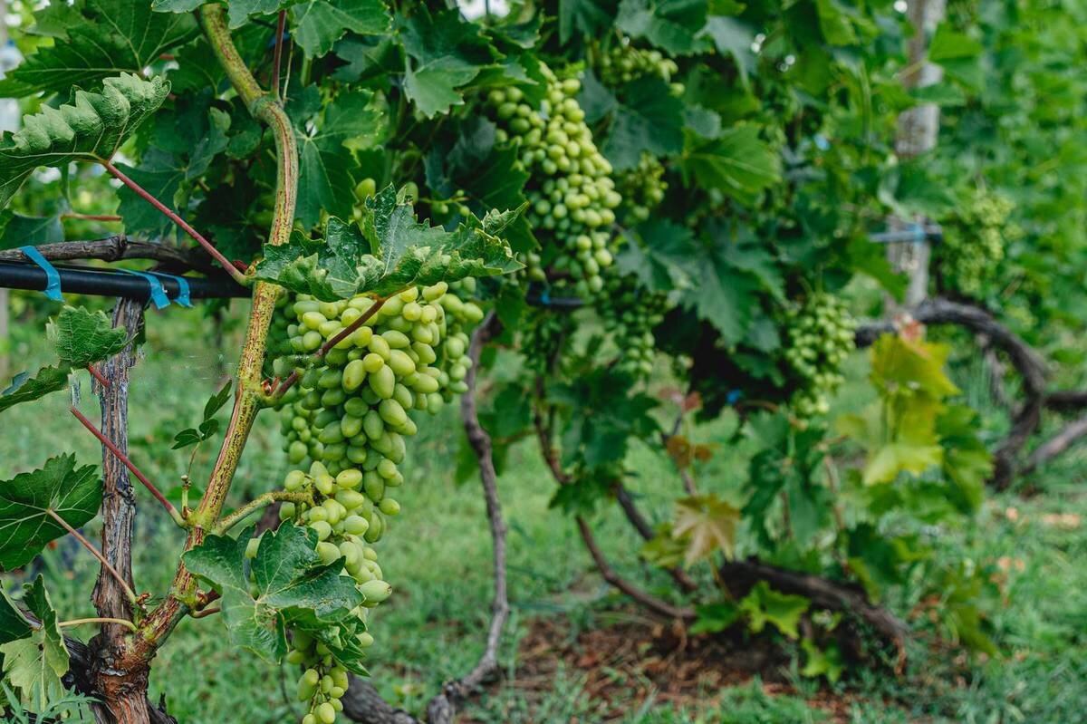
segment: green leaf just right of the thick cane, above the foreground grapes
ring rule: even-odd
[[[352,172],[358,163],[343,143],[352,139],[376,142],[384,128],[383,113],[368,90],[340,93],[322,110],[315,127],[307,130],[309,120],[304,105],[292,116],[300,174],[296,215],[307,227],[320,221],[322,211],[351,215],[357,202]]]

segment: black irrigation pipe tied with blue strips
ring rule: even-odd
[[[147,300],[151,296],[151,287],[147,279],[105,269],[76,266],[73,264],[53,264],[61,277],[61,291],[96,297],[128,297],[129,299]],[[180,285],[162,275],[158,277],[166,296],[177,299]],[[197,277],[187,276],[191,299],[230,299],[249,297],[251,290],[234,282],[229,277]],[[28,289],[43,291],[48,280],[46,272],[37,264],[16,261],[0,261],[0,288]]]

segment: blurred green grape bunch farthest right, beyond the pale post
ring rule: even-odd
[[[1008,238],[1016,233],[1008,226],[1014,208],[1001,196],[977,191],[945,221],[944,240],[935,253],[945,282],[965,295],[980,294],[984,275],[1004,258]]]

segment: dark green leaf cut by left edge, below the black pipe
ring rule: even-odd
[[[34,560],[46,544],[95,517],[102,486],[95,465],[75,466],[75,455],[50,458],[39,470],[0,480],[0,571]]]

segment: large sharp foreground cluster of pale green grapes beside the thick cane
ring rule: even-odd
[[[459,287],[468,292],[473,285]],[[337,302],[285,297],[273,329],[288,340],[275,348],[290,353],[272,363],[274,373],[289,375],[376,303],[366,296]],[[392,591],[373,544],[387,519],[400,512],[390,494],[403,483],[397,466],[407,452],[404,438],[416,432],[409,412],[436,412],[449,396],[465,390],[467,330],[482,319],[478,305],[443,282],[411,287],[333,345],[282,398],[280,424],[293,466],[284,488],[312,504],[284,502],[279,517],[311,528],[325,563],[343,560],[343,573],[364,597],[354,611],[363,628],[354,635],[361,648],[373,644],[364,631],[368,609]],[[304,632],[295,633],[292,647],[288,660],[305,666],[298,685],[300,699],[310,703],[303,724],[330,724],[341,709],[347,672]]]

